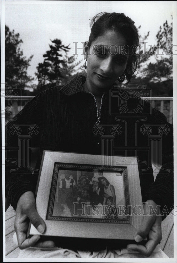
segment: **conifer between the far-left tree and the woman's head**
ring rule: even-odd
[[[81,62],[76,62],[74,55],[68,56],[69,45],[63,45],[60,39],[51,42],[50,50],[43,55],[44,62],[37,66],[35,75],[38,85],[35,94],[55,85],[65,85],[79,70],[81,71]]]

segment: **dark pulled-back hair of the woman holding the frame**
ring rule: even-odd
[[[131,18],[126,17],[124,13],[105,13],[96,14],[90,21],[91,33],[89,36],[89,45],[99,36],[108,30],[114,30],[125,37],[127,45],[130,45],[131,54],[127,61],[127,67],[124,71],[127,81],[135,77],[135,72],[139,65],[139,55],[136,54],[140,46],[138,30]],[[133,48],[134,47],[134,48]]]

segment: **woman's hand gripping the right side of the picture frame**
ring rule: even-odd
[[[140,242],[148,235],[149,240],[144,246],[129,244],[127,245],[127,249],[138,251],[145,256],[150,256],[162,239],[162,216],[160,215],[159,207],[153,200],[148,200],[146,203],[146,212],[144,208],[144,214],[146,215],[143,215],[142,224],[136,231],[134,239],[136,242]],[[150,209],[150,207],[156,212],[152,213],[152,209]]]

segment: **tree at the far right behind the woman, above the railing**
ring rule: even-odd
[[[140,38],[142,44],[146,42],[148,36],[149,32],[144,38]],[[145,53],[141,50],[140,72],[135,81],[140,87],[147,85],[151,88],[153,96],[173,96],[171,45],[172,22],[169,25],[166,21],[163,27],[159,28],[156,44],[146,49]]]

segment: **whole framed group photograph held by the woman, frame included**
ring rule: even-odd
[[[134,240],[141,222],[135,157],[44,151],[36,193],[46,236]]]

